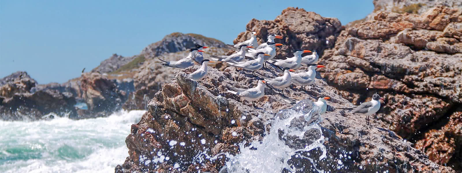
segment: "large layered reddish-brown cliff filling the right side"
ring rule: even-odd
[[[354,104],[376,92],[383,95],[377,122],[420,143],[416,147],[442,165],[461,153],[451,142],[460,140],[460,132],[446,127],[461,124],[450,118],[462,107],[461,14],[444,6],[421,15],[379,12],[341,31],[335,47],[320,58],[327,66],[321,69],[324,78],[340,95]],[[454,136],[432,135],[437,131]]]

